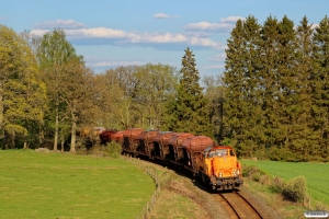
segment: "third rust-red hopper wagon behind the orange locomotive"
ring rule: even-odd
[[[175,132],[172,131],[159,131],[157,136],[155,137],[155,151],[154,157],[159,160],[166,160],[168,159],[169,154],[169,139],[172,137]]]

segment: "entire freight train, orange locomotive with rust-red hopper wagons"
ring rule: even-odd
[[[212,189],[235,189],[242,185],[241,164],[229,146],[216,146],[207,136],[189,132],[145,130],[101,130],[103,145],[116,141],[122,153],[172,163],[186,170]]]

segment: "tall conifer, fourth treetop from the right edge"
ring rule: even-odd
[[[266,148],[271,148],[277,143],[277,139],[281,138],[279,128],[280,106],[277,99],[280,96],[280,72],[277,72],[276,66],[280,62],[277,56],[279,45],[279,22],[275,18],[269,16],[261,28],[261,68],[259,72],[259,84],[262,100],[262,119],[264,131],[264,145]]]

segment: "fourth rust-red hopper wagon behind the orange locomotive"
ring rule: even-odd
[[[158,130],[145,130],[138,136],[137,153],[152,158],[155,150],[154,139],[157,136]]]

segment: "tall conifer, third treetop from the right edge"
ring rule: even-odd
[[[276,136],[277,147],[285,151],[286,159],[291,161],[299,160],[298,148],[299,138],[297,137],[297,127],[299,112],[302,111],[302,102],[298,101],[298,81],[297,81],[297,41],[294,22],[287,16],[284,16],[279,23],[277,38],[277,57],[280,58],[276,65],[277,72],[277,116],[280,123],[277,129],[281,135]]]

